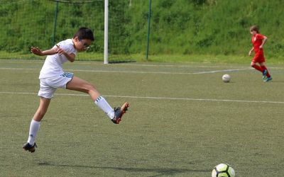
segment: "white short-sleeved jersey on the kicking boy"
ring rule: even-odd
[[[71,39],[63,40],[59,42],[58,45],[68,54],[77,54],[77,50],[75,49]],[[54,47],[56,47],[56,45]],[[67,57],[65,57],[65,55],[48,55],[48,57],[46,57],[45,59],[45,63],[43,64],[43,68],[40,70],[39,79],[60,76],[61,74],[64,74],[62,64],[67,61],[69,60],[67,59]]]

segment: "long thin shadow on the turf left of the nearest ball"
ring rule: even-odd
[[[48,162],[40,162],[39,166],[61,166],[61,167],[77,167],[77,168],[90,168],[90,169],[111,169],[116,171],[128,171],[128,172],[154,172],[158,173],[154,176],[173,176],[179,173],[209,173],[211,170],[193,170],[193,169],[167,169],[167,168],[134,168],[134,167],[111,167],[111,166],[84,166],[84,165],[67,165],[67,164],[51,164]]]

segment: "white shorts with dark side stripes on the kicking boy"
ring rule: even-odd
[[[53,98],[53,93],[55,93],[56,89],[66,89],[66,84],[71,81],[73,76],[74,74],[65,72],[60,76],[40,79],[40,91],[38,91],[38,96]]]

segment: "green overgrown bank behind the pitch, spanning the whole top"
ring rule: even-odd
[[[109,53],[141,54],[146,50],[148,1],[109,1]],[[89,52],[103,52],[104,1],[58,4],[55,1],[0,1],[0,48],[28,53],[72,38],[77,28],[95,31]],[[152,1],[151,55],[247,55],[251,48],[249,27],[259,25],[268,37],[268,57],[283,57],[284,16],[281,0],[159,0]]]

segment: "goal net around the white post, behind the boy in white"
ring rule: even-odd
[[[91,28],[95,41],[79,60],[104,60],[104,0],[0,0],[0,58],[38,59],[31,46],[47,50],[72,38],[80,27]],[[129,1],[109,1],[108,61],[131,61],[125,8]],[[45,57],[41,57],[44,59]]]

